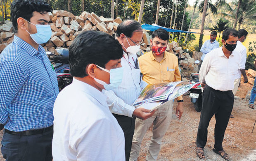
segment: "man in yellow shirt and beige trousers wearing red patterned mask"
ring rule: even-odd
[[[139,57],[140,70],[143,74],[142,79],[149,83],[166,83],[181,80],[178,67],[178,57],[166,52],[169,34],[164,29],[155,30],[152,34],[150,43],[152,51]],[[183,113],[183,98],[177,98],[178,106],[176,116],[180,119]],[[147,161],[155,161],[161,148],[161,140],[166,133],[171,122],[173,101],[158,108],[154,115],[147,120],[136,118],[135,131],[133,135],[132,150],[130,161],[136,161],[140,153],[140,145],[147,129],[153,123],[153,136],[147,152]]]

